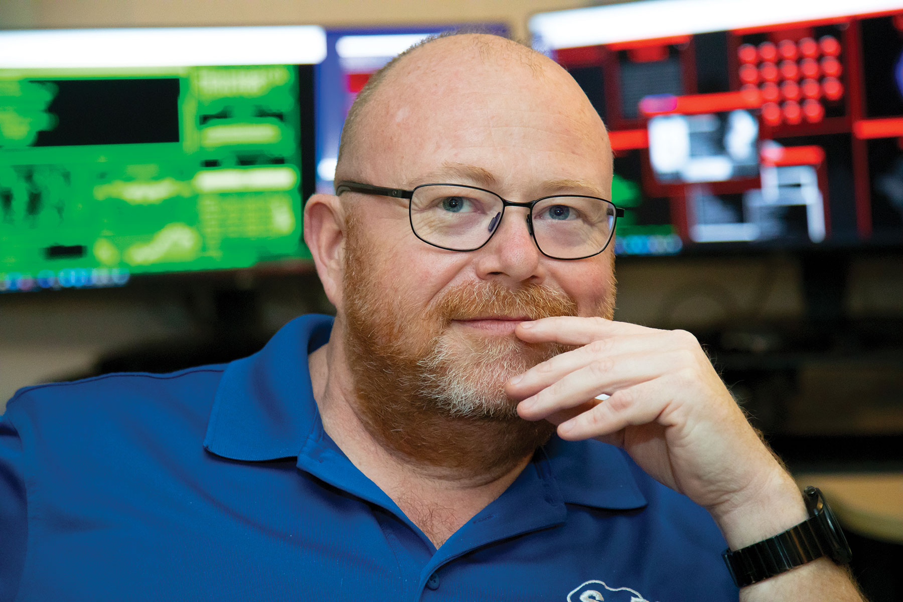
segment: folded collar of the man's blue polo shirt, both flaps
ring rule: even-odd
[[[245,461],[296,458],[305,449],[320,449],[325,435],[307,356],[329,340],[331,328],[330,316],[302,316],[253,356],[231,362],[214,397],[204,448]],[[313,440],[317,444],[309,445]],[[646,505],[632,462],[620,449],[553,437],[545,456],[565,503],[612,510]]]

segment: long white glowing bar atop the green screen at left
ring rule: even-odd
[[[317,25],[0,32],[0,69],[98,69],[316,64]]]

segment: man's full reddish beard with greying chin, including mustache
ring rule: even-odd
[[[403,458],[473,476],[532,454],[554,425],[519,418],[504,384],[567,347],[450,327],[486,316],[576,315],[573,299],[542,285],[486,282],[454,287],[424,311],[384,284],[361,229],[349,219],[344,344],[352,403],[368,432]]]

